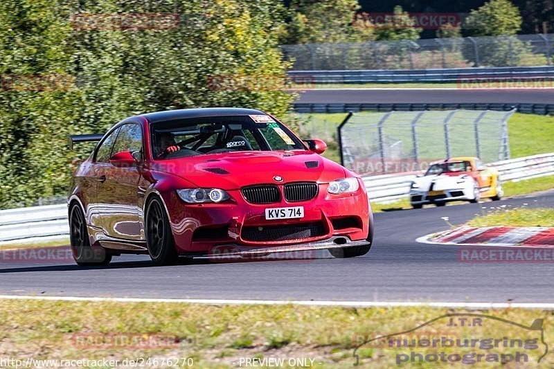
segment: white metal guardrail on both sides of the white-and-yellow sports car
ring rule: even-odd
[[[497,161],[488,166],[499,170],[501,181],[522,181],[554,175],[554,152]],[[415,177],[415,173],[384,174],[364,177],[364,183],[372,202],[387,202],[407,197],[410,183]]]

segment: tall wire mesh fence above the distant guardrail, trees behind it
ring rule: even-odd
[[[283,45],[294,71],[550,66],[554,34]]]

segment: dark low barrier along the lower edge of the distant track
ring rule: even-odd
[[[297,113],[347,113],[348,111],[415,111],[415,110],[499,110],[509,111],[516,108],[519,113],[554,115],[554,104],[500,104],[486,102],[463,102],[463,103],[416,103],[416,104],[343,104],[343,103],[305,103],[294,104],[294,111]]]

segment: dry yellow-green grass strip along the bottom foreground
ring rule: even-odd
[[[8,317],[0,322],[0,357],[109,357],[119,360],[155,357],[159,363],[161,359],[190,357],[195,368],[231,368],[238,366],[241,358],[310,358],[315,367],[337,368],[352,366],[357,349],[363,367],[388,367],[395,366],[397,354],[413,349],[387,348],[382,342],[368,343],[368,339],[413,330],[447,313],[452,311],[429,307],[357,309],[0,300],[0,315]],[[554,340],[552,312],[503,309],[472,313],[488,314],[522,325],[531,325],[536,318],[544,318],[544,341]],[[481,317],[483,323],[479,327],[452,327],[448,325],[449,318],[440,318],[425,329],[411,332],[409,337],[429,339],[432,335],[438,339],[441,336],[479,339],[487,336],[502,339],[508,336],[521,339],[524,336],[537,338],[537,334],[540,337],[538,331],[529,333],[494,318]],[[121,339],[136,335],[145,339],[150,336],[170,337],[171,344],[166,348],[154,349],[152,345],[137,348],[136,344],[129,345]],[[93,339],[87,340],[87,337]],[[111,337],[111,341],[106,337]],[[402,337],[406,338],[405,335]],[[418,350],[428,354],[447,349]],[[458,350],[458,353],[461,352]],[[536,365],[542,353],[544,345],[539,341],[537,349],[528,352],[529,363]],[[552,356],[547,356],[543,363],[553,365]],[[430,368],[436,363],[415,365]]]

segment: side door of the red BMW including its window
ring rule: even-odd
[[[111,156],[131,152],[141,161],[143,152],[142,127],[127,123],[119,129]],[[98,185],[98,203],[102,208],[102,228],[113,238],[143,240],[142,209],[139,206],[141,174],[136,165],[116,167],[109,163],[106,180]]]

